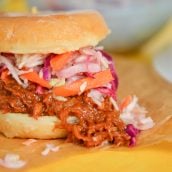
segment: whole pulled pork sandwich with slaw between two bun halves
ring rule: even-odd
[[[1,16],[0,132],[87,147],[131,144],[112,58],[95,47],[108,33],[94,11]]]

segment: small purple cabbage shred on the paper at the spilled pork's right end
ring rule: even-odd
[[[140,130],[134,127],[133,124],[128,124],[126,128],[126,133],[131,137],[129,146],[136,145],[136,137],[140,133]]]

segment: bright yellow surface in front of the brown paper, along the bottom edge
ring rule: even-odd
[[[56,169],[56,170],[55,170]],[[171,172],[172,144],[161,143],[142,149],[99,151],[73,156],[28,172]]]

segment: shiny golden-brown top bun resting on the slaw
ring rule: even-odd
[[[95,46],[109,33],[96,11],[0,16],[0,52],[56,53]]]

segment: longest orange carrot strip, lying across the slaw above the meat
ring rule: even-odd
[[[86,84],[85,91],[91,88],[97,88],[101,87],[102,85],[105,85],[112,81],[114,78],[111,74],[111,71],[109,69],[98,72],[94,74],[94,78],[86,77],[80,80],[77,80],[73,82],[70,85],[64,85],[60,87],[55,87],[53,89],[53,92],[57,96],[74,96],[80,93],[80,87],[83,83]]]

